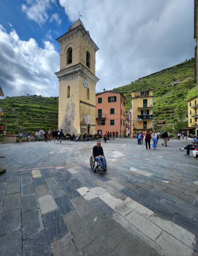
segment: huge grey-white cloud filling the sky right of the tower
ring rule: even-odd
[[[59,3],[72,22],[78,19],[80,11],[83,25],[100,48],[96,54],[96,75],[100,78],[97,92],[123,86],[194,55],[193,1]]]

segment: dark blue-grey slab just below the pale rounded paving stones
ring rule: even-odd
[[[88,202],[103,218],[107,218],[108,216],[115,212],[108,204],[106,204],[99,197],[95,197],[89,200]]]

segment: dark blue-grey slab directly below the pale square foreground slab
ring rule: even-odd
[[[49,242],[52,242],[69,232],[58,210],[44,214],[43,221]]]

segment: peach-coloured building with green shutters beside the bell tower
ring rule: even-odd
[[[96,95],[96,133],[118,131],[118,137],[125,137],[125,102],[121,92],[104,91]]]

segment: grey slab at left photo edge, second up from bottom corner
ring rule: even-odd
[[[21,207],[2,212],[0,236],[21,228]]]

